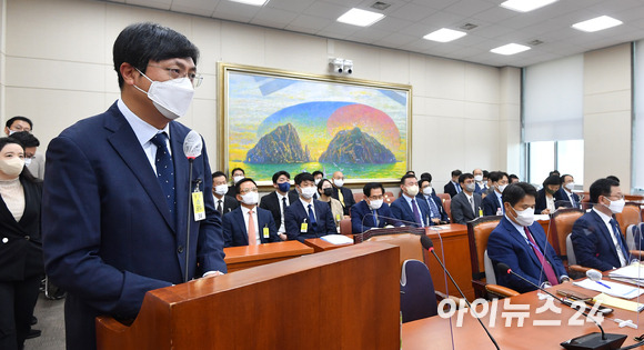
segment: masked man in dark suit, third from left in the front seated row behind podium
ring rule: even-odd
[[[380,182],[368,182],[362,189],[364,200],[351,208],[351,229],[353,234],[388,224],[401,226],[393,219],[389,204],[384,202],[384,187]]]

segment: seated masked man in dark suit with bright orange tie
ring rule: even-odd
[[[281,242],[270,211],[258,208],[258,184],[244,178],[235,184],[241,206],[223,216],[224,247],[256,246]]]

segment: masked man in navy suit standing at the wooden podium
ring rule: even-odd
[[[189,178],[190,129],[173,121],[200,81],[199,50],[170,28],[135,23],[113,53],[120,99],[62,131],[47,151],[44,261],[68,291],[68,350],[95,349],[97,316],[132,320],[145,292],[227,271],[205,148]],[[203,198],[199,221],[193,192]]]

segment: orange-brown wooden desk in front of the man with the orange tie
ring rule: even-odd
[[[259,246],[242,246],[224,248],[223,259],[228,264],[228,272],[266,264],[313,253],[313,248],[299,241],[284,241]]]

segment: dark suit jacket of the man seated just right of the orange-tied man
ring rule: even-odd
[[[284,210],[284,226],[286,227],[289,240],[296,239],[300,242],[304,242],[308,238],[320,238],[322,236],[338,233],[329,203],[313,199],[313,207],[315,208],[315,221],[318,222],[315,228],[309,221],[309,208],[304,208],[300,199],[293,201]],[[300,231],[302,222],[308,223],[306,232]]]

